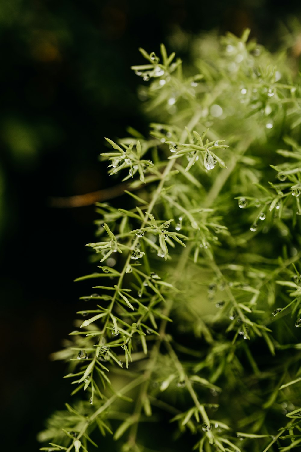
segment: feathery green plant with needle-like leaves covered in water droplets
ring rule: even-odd
[[[97,203],[100,271],[77,279],[97,293],[54,355],[83,400],[53,414],[41,450],[102,450],[107,434],[123,452],[181,435],[200,452],[301,444],[300,76],[247,39],[196,38],[187,74],[163,45],[140,49],[154,122],[106,139],[130,206]]]

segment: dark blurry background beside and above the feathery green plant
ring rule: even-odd
[[[43,420],[69,383],[49,354],[73,329],[91,271],[94,207],[50,198],[116,184],[97,163],[103,137],[147,130],[130,65],[168,37],[245,27],[269,48],[300,1],[85,0],[0,2],[0,297],[3,450],[38,449]],[[299,23],[300,24],[300,23]],[[300,27],[301,33],[301,27]],[[181,55],[185,58],[185,55]],[[88,287],[88,286],[87,286]]]

